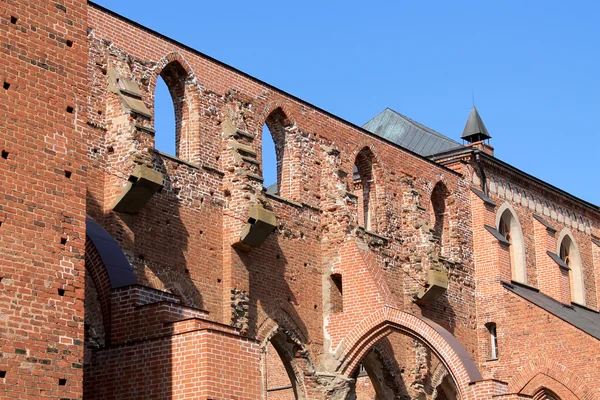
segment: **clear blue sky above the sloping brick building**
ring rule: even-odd
[[[458,140],[474,91],[497,157],[600,204],[598,1],[97,2],[358,125]]]

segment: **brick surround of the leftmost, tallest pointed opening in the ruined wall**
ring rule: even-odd
[[[192,69],[179,53],[170,53],[163,57],[154,70],[153,88],[159,80],[166,84],[175,112],[175,137],[168,138],[175,142],[175,155],[186,161],[199,161],[200,126],[199,115],[194,112],[197,106],[195,95],[195,77]],[[154,126],[156,128],[156,98],[154,109]],[[155,135],[161,135],[156,132]]]

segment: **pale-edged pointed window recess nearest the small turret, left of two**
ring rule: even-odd
[[[496,228],[510,242],[511,279],[527,283],[525,240],[517,213],[509,203],[504,203],[496,214]]]

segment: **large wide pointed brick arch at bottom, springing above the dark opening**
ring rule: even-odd
[[[348,376],[380,339],[394,331],[404,332],[425,343],[450,372],[460,398],[472,398],[469,385],[483,378],[460,342],[435,322],[390,307],[366,317],[344,337],[337,350],[342,360],[338,372]]]

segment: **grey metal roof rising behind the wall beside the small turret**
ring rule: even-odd
[[[364,124],[363,128],[424,157],[462,146],[389,108]]]

